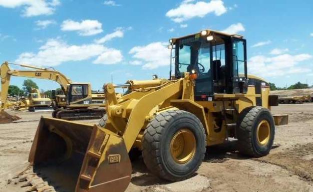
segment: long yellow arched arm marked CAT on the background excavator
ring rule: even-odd
[[[19,66],[35,70],[11,70],[8,62],[5,62],[1,65],[0,68],[1,97],[2,97],[1,109],[7,109],[8,102],[7,98],[11,76],[48,79],[55,81],[60,84],[63,92],[67,95],[67,86],[68,84],[71,84],[72,81],[69,78],[67,78],[64,74],[51,69],[40,68],[30,65],[19,65]]]

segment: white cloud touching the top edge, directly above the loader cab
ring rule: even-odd
[[[178,8],[169,10],[166,16],[176,23],[181,23],[195,17],[203,18],[210,13],[221,16],[227,12],[221,0],[211,0],[208,3],[200,1],[194,4],[192,2],[194,1],[183,1]]]

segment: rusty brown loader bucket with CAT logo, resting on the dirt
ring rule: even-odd
[[[61,191],[124,191],[131,179],[123,138],[97,125],[42,117],[29,161]]]

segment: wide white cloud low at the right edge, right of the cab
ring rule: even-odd
[[[274,57],[258,55],[249,59],[248,73],[260,75],[262,77],[306,73],[311,70],[309,68],[302,67],[300,62],[310,60],[311,58],[312,56],[308,54],[283,54]]]

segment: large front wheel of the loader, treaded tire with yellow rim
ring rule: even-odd
[[[142,146],[144,162],[152,173],[170,181],[183,180],[202,163],[206,135],[195,115],[170,110],[158,114],[147,125]]]

